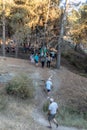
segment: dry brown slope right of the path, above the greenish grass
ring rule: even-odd
[[[87,79],[67,71],[63,75],[58,99],[72,110],[85,113],[87,110]]]

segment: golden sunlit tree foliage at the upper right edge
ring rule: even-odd
[[[70,29],[72,39],[76,44],[87,43],[87,5],[80,7],[78,13],[76,11],[72,12],[72,16],[75,16],[73,17],[73,21],[74,19],[76,20],[74,24],[72,24],[72,29]]]

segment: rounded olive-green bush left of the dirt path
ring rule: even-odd
[[[33,82],[26,75],[19,75],[8,82],[6,92],[23,99],[32,98],[34,93]]]

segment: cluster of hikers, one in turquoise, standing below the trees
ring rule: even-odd
[[[41,63],[41,67],[44,68],[45,65],[50,68],[51,62],[54,59],[54,54],[50,54],[46,47],[42,47],[40,52],[32,52],[30,55],[31,63],[35,63],[38,66],[38,63]]]

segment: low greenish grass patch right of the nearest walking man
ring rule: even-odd
[[[65,126],[78,127],[80,129],[87,128],[87,112],[78,113],[78,110],[74,107],[66,106],[61,106],[59,110],[60,113],[63,115],[63,118],[60,113],[58,113],[57,115],[59,124]]]

